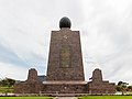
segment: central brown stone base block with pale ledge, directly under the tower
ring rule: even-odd
[[[44,94],[87,94],[86,81],[43,81]]]

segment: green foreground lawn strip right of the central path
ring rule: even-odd
[[[132,99],[132,96],[87,96],[78,99]]]

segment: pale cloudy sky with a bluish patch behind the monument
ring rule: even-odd
[[[80,31],[86,80],[132,84],[132,0],[0,0],[0,78],[46,74],[51,31],[62,16]]]

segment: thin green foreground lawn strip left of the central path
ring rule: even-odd
[[[0,99],[53,99],[52,97],[0,97]]]

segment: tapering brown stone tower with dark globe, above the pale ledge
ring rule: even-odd
[[[70,30],[70,20],[59,21],[59,31],[52,31],[47,65],[47,81],[84,81],[79,31]]]

